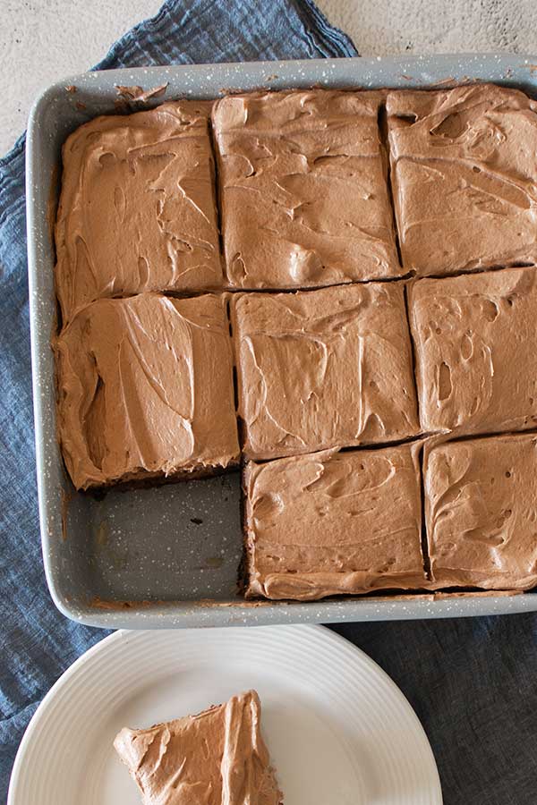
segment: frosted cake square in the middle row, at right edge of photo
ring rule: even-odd
[[[535,269],[419,280],[409,299],[422,429],[535,427]]]

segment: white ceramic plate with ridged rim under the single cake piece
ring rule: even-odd
[[[117,631],[55,683],[8,805],[140,805],[112,741],[255,688],[286,805],[440,805],[422,725],[369,657],[320,626]]]

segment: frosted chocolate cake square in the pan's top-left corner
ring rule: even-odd
[[[64,144],[55,228],[64,322],[101,297],[221,288],[210,105],[97,117]]]

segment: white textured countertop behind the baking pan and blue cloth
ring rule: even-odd
[[[318,5],[362,55],[537,54],[534,0],[318,0]],[[160,0],[0,0],[0,154],[24,129],[39,89],[98,62],[115,39],[159,6]]]

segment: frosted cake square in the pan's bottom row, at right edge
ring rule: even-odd
[[[537,583],[537,436],[432,447],[425,513],[434,586],[530,589]]]

